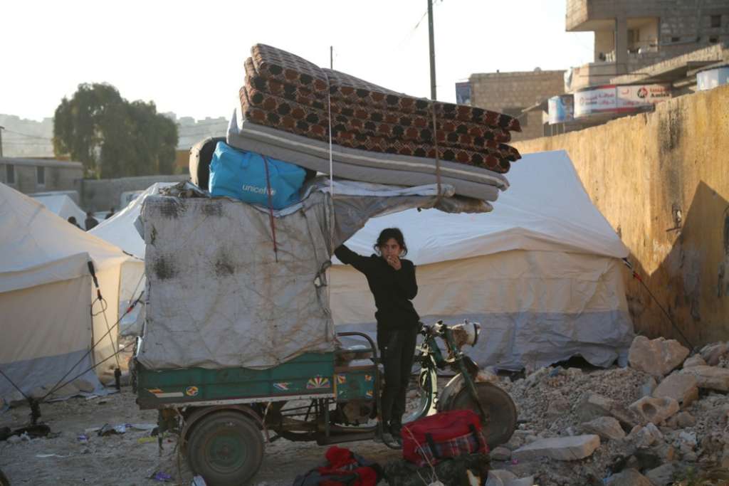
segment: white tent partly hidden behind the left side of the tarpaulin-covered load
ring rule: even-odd
[[[122,211],[115,213],[109,219],[104,219],[98,226],[89,230],[89,233],[98,236],[116,245],[130,255],[136,256],[129,259],[122,266],[122,279],[119,289],[119,312],[123,315],[119,323],[120,334],[139,334],[141,325],[144,323],[144,305],[134,307],[132,312],[124,315],[130,303],[139,297],[144,290],[144,240],[134,227],[134,222],[139,217],[141,205],[149,195],[157,194],[160,188],[172,186],[172,182],[157,182],[149,186],[144,192],[135,197]]]

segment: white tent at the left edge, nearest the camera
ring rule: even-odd
[[[112,356],[117,334],[101,338],[117,321],[120,269],[129,256],[4,184],[0,221],[0,370],[23,393],[44,396],[71,369],[68,378]],[[96,301],[89,263],[104,302]],[[113,358],[96,374],[107,366]],[[93,372],[79,378],[92,389],[99,384]],[[2,376],[0,398],[20,398]]]

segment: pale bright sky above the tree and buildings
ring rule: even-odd
[[[253,44],[429,97],[428,0],[9,1],[0,113],[52,117],[83,82],[196,119],[228,117]],[[593,34],[564,31],[566,0],[434,0],[437,98],[472,73],[566,69]]]

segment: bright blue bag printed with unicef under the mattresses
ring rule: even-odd
[[[306,172],[298,165],[268,158],[268,179],[273,209],[299,202]],[[214,196],[235,197],[268,208],[266,161],[260,154],[244,152],[218,142],[210,162],[208,190]]]

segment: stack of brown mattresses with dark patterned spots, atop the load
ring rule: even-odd
[[[332,142],[339,146],[499,173],[521,157],[504,143],[510,130],[521,130],[518,119],[495,111],[413,98],[263,44],[252,48],[245,67],[241,111],[256,124],[329,141],[331,108]]]

